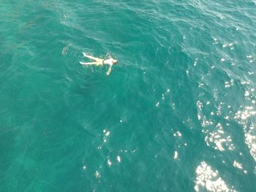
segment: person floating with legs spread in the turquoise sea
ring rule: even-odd
[[[91,58],[92,60],[94,60],[94,62],[84,63],[80,61],[80,64],[82,65],[109,65],[107,75],[110,74],[113,64],[117,64],[117,60],[113,58],[94,58],[91,55],[86,55],[86,53],[83,53],[83,56],[85,56],[86,58]]]

